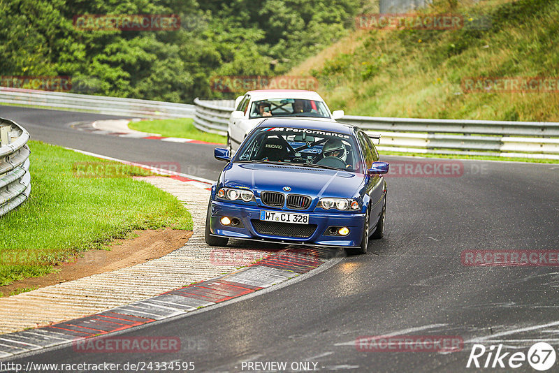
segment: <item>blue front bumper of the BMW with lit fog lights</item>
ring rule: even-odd
[[[361,244],[363,237],[363,223],[365,214],[362,212],[305,212],[296,210],[275,210],[255,205],[239,205],[224,201],[212,200],[210,214],[210,231],[213,235],[222,237],[238,238],[245,240],[263,240],[271,242],[284,242],[289,244],[311,244],[328,245],[334,247],[356,247]],[[293,212],[297,214],[309,214],[309,225],[303,224],[279,224],[264,223],[266,228],[262,228],[260,222],[260,212],[263,210],[275,212]],[[241,221],[239,226],[224,226],[221,224],[222,217],[237,218]],[[286,224],[289,224],[286,226]],[[313,227],[314,228],[313,231]],[[328,235],[328,228],[331,226],[345,226],[349,228],[349,234]],[[275,229],[282,228],[282,229]],[[266,231],[264,233],[263,231]],[[275,234],[272,233],[275,231]],[[293,235],[299,235],[294,237]],[[301,235],[309,237],[301,237]]]

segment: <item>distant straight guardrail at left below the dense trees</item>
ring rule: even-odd
[[[65,92],[48,92],[36,89],[0,87],[0,103],[33,105],[41,108],[82,110],[98,112],[99,114],[140,118],[166,119],[194,117],[194,105],[187,105],[184,103],[93,96],[89,94],[70,94]]]

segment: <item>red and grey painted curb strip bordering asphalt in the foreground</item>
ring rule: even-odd
[[[333,249],[285,249],[246,268],[92,316],[0,335],[0,358],[107,335],[254,293],[309,272]]]

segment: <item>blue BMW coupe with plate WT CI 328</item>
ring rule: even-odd
[[[389,163],[356,126],[314,119],[265,119],[212,185],[205,224],[210,246],[229,238],[344,247],[365,254],[382,238]]]

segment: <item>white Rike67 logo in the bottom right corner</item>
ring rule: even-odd
[[[491,345],[488,349],[483,344],[474,344],[467,359],[466,367],[476,368],[504,368],[516,369],[525,366],[526,362],[535,370],[544,372],[549,370],[556,361],[556,351],[551,344],[537,342],[528,350],[528,354],[521,351],[503,352],[503,345]]]

